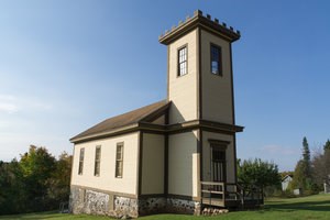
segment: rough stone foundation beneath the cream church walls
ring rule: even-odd
[[[200,204],[164,197],[135,199],[92,189],[72,187],[69,209],[73,213],[138,218],[139,216],[165,212],[199,215]]]

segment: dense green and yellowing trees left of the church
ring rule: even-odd
[[[30,146],[20,161],[0,161],[0,215],[46,211],[69,199],[72,156]]]

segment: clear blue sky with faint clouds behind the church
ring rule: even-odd
[[[0,160],[164,99],[158,35],[202,10],[233,44],[238,156],[293,169],[330,139],[329,1],[0,1]]]

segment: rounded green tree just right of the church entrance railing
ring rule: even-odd
[[[279,186],[280,175],[278,167],[273,162],[263,162],[261,158],[254,161],[239,161],[238,180],[244,188],[257,186],[264,189],[267,186]]]

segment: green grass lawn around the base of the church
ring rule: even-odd
[[[62,219],[90,219],[100,220],[109,219],[108,217],[95,217],[95,216],[74,216],[74,215],[62,215],[54,212],[42,212],[31,215],[16,215],[16,216],[0,216],[0,219],[50,219],[50,220],[62,220]],[[316,195],[301,198],[293,199],[268,199],[263,209],[252,211],[233,211],[227,215],[217,217],[195,217],[185,215],[155,215],[139,218],[141,220],[165,220],[165,219],[219,219],[219,220],[286,220],[286,219],[330,219],[330,195]]]

